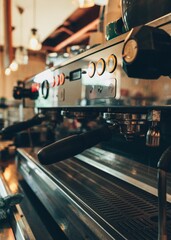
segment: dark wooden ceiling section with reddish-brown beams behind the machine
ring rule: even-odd
[[[65,52],[68,46],[88,45],[90,34],[97,31],[99,12],[97,5],[76,9],[43,41],[43,49]]]

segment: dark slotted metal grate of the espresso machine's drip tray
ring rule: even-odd
[[[157,239],[157,197],[75,159],[46,168],[123,239]],[[167,208],[169,226],[171,205]],[[169,227],[168,235],[171,239]]]

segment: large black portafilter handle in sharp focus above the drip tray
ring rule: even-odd
[[[86,133],[72,135],[52,143],[38,152],[38,160],[44,165],[73,157],[87,148],[112,137],[112,130],[104,126]]]

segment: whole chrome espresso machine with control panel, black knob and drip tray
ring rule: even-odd
[[[53,133],[16,156],[45,239],[171,239],[170,23],[135,27],[14,89]]]

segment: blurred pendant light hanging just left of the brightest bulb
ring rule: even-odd
[[[17,6],[18,12],[20,14],[20,46],[16,48],[15,50],[15,61],[18,64],[28,64],[28,53],[27,53],[27,49],[23,47],[22,45],[22,37],[23,37],[23,12],[24,9],[20,6]]]

